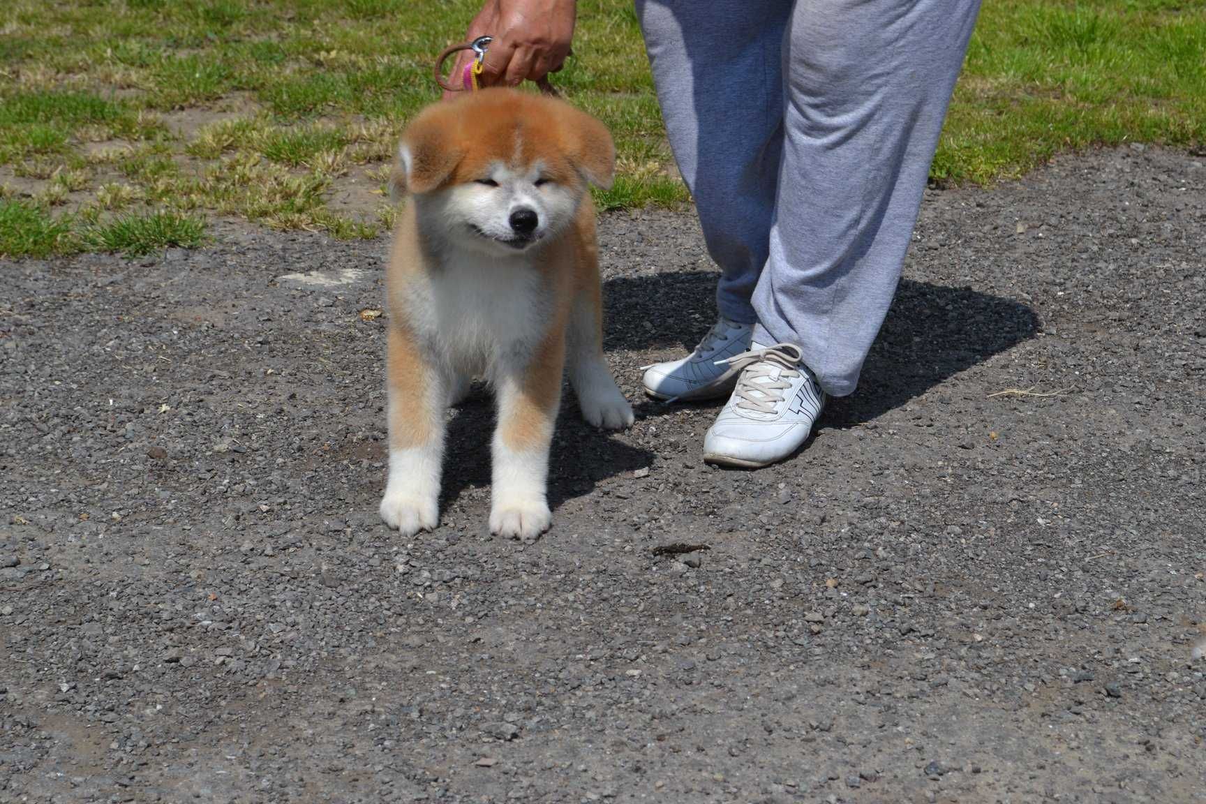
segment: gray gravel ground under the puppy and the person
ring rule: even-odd
[[[0,264],[0,800],[1206,799],[1204,162],[930,193],[801,456],[567,400],[532,545],[481,395],[443,527],[376,518],[384,241]],[[601,236],[637,399],[715,275],[686,213]]]

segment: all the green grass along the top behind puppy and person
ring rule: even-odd
[[[437,96],[432,57],[479,5],[0,4],[0,166],[27,182],[5,203],[5,253],[128,251],[131,221],[157,221],[151,231],[215,215],[374,236],[393,219],[384,195],[357,213],[327,201],[345,182],[380,184],[403,124]],[[555,83],[610,127],[620,157],[598,206],[686,200],[631,2],[580,0],[574,49]],[[931,177],[989,183],[1128,141],[1200,148],[1204,53],[1202,2],[985,2]],[[123,227],[96,223],[115,213]]]

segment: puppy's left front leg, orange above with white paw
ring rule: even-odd
[[[381,518],[404,536],[439,523],[440,463],[447,378],[414,339],[390,325],[386,385],[390,394],[390,481]]]

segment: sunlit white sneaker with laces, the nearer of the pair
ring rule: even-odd
[[[792,344],[761,346],[726,362],[739,372],[733,395],[703,436],[703,459],[757,468],[783,460],[808,440],[825,392]]]

